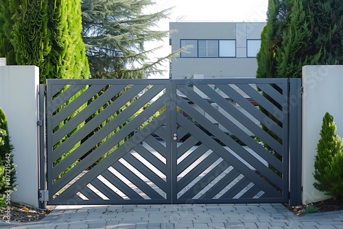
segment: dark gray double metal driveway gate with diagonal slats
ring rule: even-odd
[[[298,79],[47,80],[47,203],[300,203],[299,89]]]

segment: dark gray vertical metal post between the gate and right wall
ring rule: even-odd
[[[302,204],[301,79],[289,79],[289,205]]]

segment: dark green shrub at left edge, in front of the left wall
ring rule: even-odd
[[[16,169],[11,154],[12,150],[13,145],[10,143],[7,118],[0,108],[0,207],[5,205],[5,191],[15,191]],[[8,171],[10,172],[8,173]],[[10,178],[5,175],[10,175]]]

